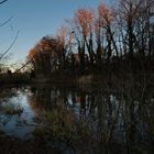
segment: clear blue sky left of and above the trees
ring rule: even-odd
[[[0,24],[10,16],[13,19],[0,28],[0,52],[18,40],[10,53],[11,59],[25,61],[28,52],[40,38],[55,34],[65,19],[70,19],[78,8],[96,9],[101,0],[9,0],[0,7]],[[103,0],[111,2],[112,0]]]

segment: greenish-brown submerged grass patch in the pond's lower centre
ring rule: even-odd
[[[82,151],[82,148],[89,148],[95,143],[86,123],[76,119],[72,110],[67,110],[62,103],[51,111],[42,112],[38,120],[42,121],[42,127],[35,129],[33,134],[41,142],[41,145],[45,145],[43,148],[47,152],[51,148],[59,151],[61,147],[74,152],[79,148]]]

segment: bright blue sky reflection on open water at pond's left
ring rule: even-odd
[[[8,135],[26,140],[32,136],[36,123],[34,122],[35,112],[29,103],[30,89],[10,88],[3,89],[10,96],[6,96],[0,102],[0,129]],[[2,91],[3,92],[3,91]],[[6,94],[6,95],[7,95]],[[21,109],[20,113],[6,113],[3,110]]]

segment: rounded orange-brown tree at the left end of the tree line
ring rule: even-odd
[[[37,74],[50,74],[55,70],[58,63],[58,40],[53,36],[44,36],[30,52],[28,61]]]

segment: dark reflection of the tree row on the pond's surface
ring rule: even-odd
[[[31,91],[33,95],[29,97],[29,102],[38,114],[42,111],[59,109],[58,106],[63,106],[67,112],[73,112],[75,121],[80,124],[78,128],[88,132],[85,135],[88,139],[80,138],[82,141],[77,140],[78,144],[73,143],[80,152],[153,152],[152,94],[147,97],[144,95],[141,99],[140,91],[131,94],[130,97],[130,91],[110,92],[97,87],[33,87]],[[65,127],[65,120],[64,116],[62,129]],[[73,132],[79,135],[80,131]]]

